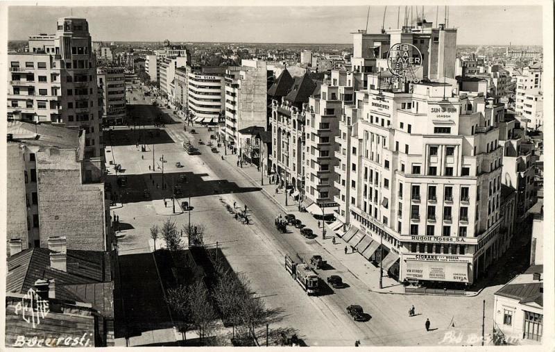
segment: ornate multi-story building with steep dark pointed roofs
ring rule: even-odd
[[[287,79],[281,83],[281,78],[282,76],[275,83],[278,90],[284,90],[287,83]],[[281,101],[273,100],[272,103],[271,170],[275,173],[275,182],[280,186],[293,186],[295,196],[304,192],[305,181],[309,177],[305,171],[307,103],[311,95],[318,95],[318,89],[318,84],[309,77],[309,74],[305,74],[295,78],[287,95],[282,97]],[[273,90],[273,87],[270,90]]]

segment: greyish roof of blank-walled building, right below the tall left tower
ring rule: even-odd
[[[14,140],[37,146],[78,148],[80,131],[46,124],[30,124],[24,121],[8,122],[8,134]]]

